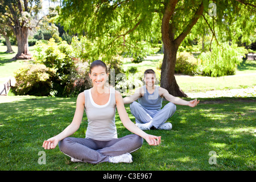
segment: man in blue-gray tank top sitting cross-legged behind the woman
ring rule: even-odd
[[[136,125],[141,130],[150,130],[151,127],[159,130],[171,130],[172,124],[167,122],[176,111],[176,105],[186,105],[195,107],[200,101],[197,99],[185,101],[179,97],[174,97],[168,91],[155,85],[155,71],[147,69],[144,72],[146,85],[135,90],[132,96],[123,98],[124,104],[130,104],[131,114],[135,117]],[[162,107],[163,97],[169,103]],[[135,102],[138,100],[138,102]]]

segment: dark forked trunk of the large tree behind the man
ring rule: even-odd
[[[162,41],[164,44],[164,58],[161,70],[161,81],[160,86],[168,90],[172,96],[176,97],[188,97],[177,85],[174,71],[176,64],[177,49],[179,48],[181,42],[191,31],[191,28],[196,24],[199,17],[203,14],[204,6],[201,2],[199,8],[196,10],[195,14],[192,16],[191,20],[184,28],[183,32],[175,38],[175,27],[174,23],[171,22],[171,18],[175,12],[175,6],[177,0],[167,1],[164,9],[164,14],[162,18]]]

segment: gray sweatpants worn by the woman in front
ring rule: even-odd
[[[71,158],[97,164],[109,162],[109,156],[134,152],[142,146],[142,143],[143,138],[135,134],[109,141],[67,137],[59,142],[59,148]]]

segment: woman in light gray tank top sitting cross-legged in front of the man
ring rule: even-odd
[[[104,62],[93,61],[89,77],[93,82],[93,88],[85,90],[77,97],[72,123],[60,134],[45,140],[44,149],[55,148],[59,143],[60,151],[70,156],[72,162],[131,163],[133,158],[130,153],[142,146],[142,138],[153,146],[160,143],[161,137],[144,133],[130,121],[121,93],[105,86],[108,71]],[[117,138],[116,107],[123,126],[134,134]],[[69,137],[79,129],[84,109],[88,118],[86,137]]]

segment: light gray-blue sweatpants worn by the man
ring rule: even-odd
[[[135,117],[137,123],[148,123],[152,121],[152,125],[156,129],[164,122],[167,121],[176,111],[176,105],[172,102],[166,104],[163,109],[160,110],[149,110],[145,109],[141,104],[134,101],[130,104],[131,114]]]

